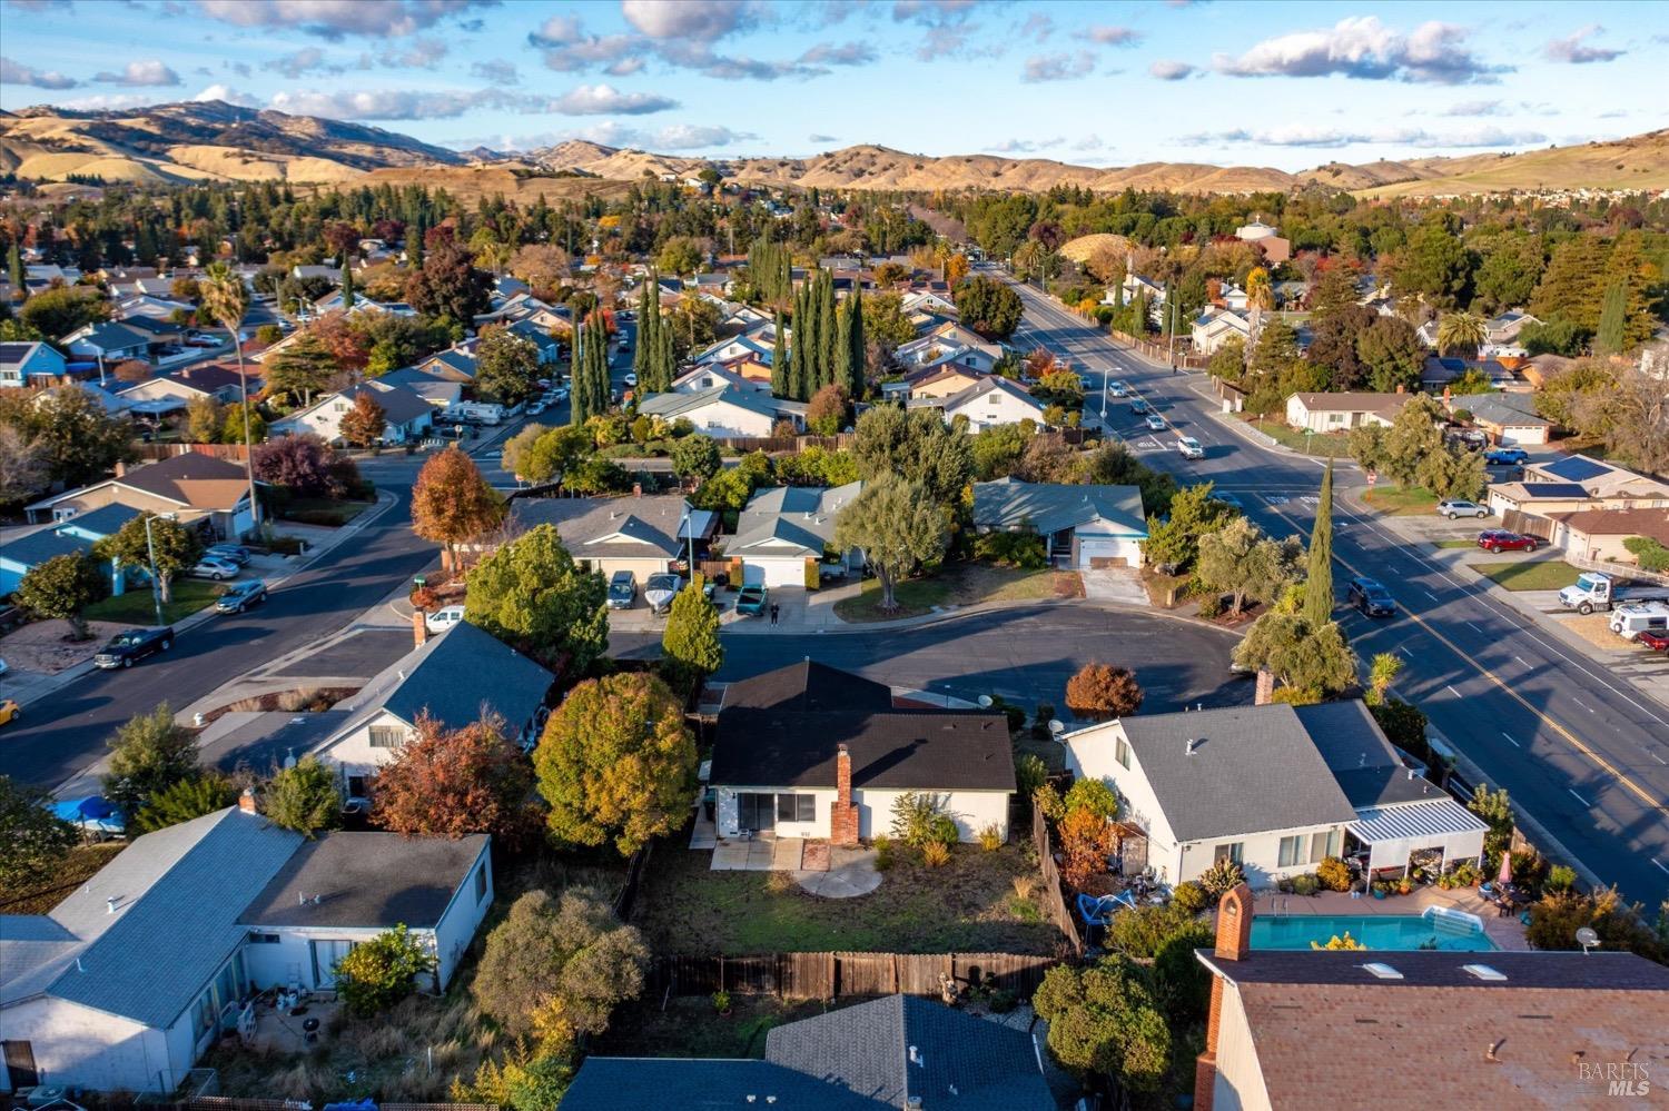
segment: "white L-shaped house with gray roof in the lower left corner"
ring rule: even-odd
[[[280,829],[254,797],[145,834],[47,914],[0,916],[8,1088],[174,1091],[265,988],[327,988],[406,924],[451,979],[492,904],[487,837]]]

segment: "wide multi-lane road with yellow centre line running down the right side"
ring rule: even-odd
[[[1173,429],[1138,432],[1128,402],[1108,404],[1108,425],[1143,462],[1183,480],[1212,479],[1245,502],[1267,530],[1308,535],[1320,464],[1272,450],[1207,415],[1205,375],[1173,375],[1023,289],[1021,347],[1038,342],[1068,355],[1095,385],[1110,375],[1140,390]],[[1205,459],[1173,450],[1193,435]],[[1404,612],[1369,622],[1344,617],[1357,654],[1399,652],[1399,691],[1487,774],[1490,784],[1537,817],[1572,854],[1631,899],[1656,911],[1669,892],[1669,707],[1606,674],[1472,582],[1450,577],[1415,545],[1365,512],[1354,494],[1362,475],[1340,470],[1335,507],[1335,579],[1367,574],[1387,584]],[[1303,499],[1310,500],[1305,502]]]

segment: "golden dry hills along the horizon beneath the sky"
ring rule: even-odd
[[[713,158],[608,147],[572,138],[554,147],[501,152],[486,145],[447,150],[399,132],[342,120],[244,108],[222,100],[159,103],[112,112],[32,107],[0,112],[0,170],[63,180],[110,182],[422,180],[476,194],[537,189],[541,173],[564,173],[559,192],[603,192],[644,177],[683,178]],[[1075,185],[1095,192],[1170,190],[1185,194],[1285,192],[1308,183],[1374,195],[1482,194],[1529,189],[1669,189],[1669,130],[1524,153],[1474,153],[1329,162],[1288,173],[1273,167],[1205,162],[1143,162],[1087,167],[1055,158],[916,155],[861,143],[798,158],[729,158],[729,177],[749,185],[801,189],[885,189],[908,192],[1020,190]],[[594,185],[572,175],[599,178]]]

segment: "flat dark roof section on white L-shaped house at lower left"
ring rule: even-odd
[[[434,928],[486,847],[486,834],[457,841],[329,834],[304,844],[244,907],[239,922]]]

